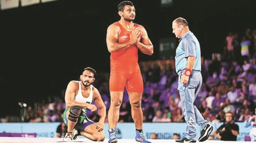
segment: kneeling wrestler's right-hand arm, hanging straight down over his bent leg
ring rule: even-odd
[[[99,122],[104,124],[106,118],[106,106],[101,98],[100,92],[98,92],[97,88],[93,89],[93,101],[95,102],[96,106],[98,107],[98,115],[100,116]]]

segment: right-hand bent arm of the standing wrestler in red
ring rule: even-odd
[[[135,45],[142,51],[142,53],[152,55],[154,49],[150,38],[148,38],[146,29],[142,25],[139,25],[139,31],[141,32],[141,40],[138,39]]]

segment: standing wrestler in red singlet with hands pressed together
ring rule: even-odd
[[[143,135],[142,93],[143,81],[138,64],[138,49],[144,54],[153,54],[153,45],[146,29],[133,23],[135,8],[130,1],[118,5],[121,19],[108,27],[106,44],[110,55],[110,108],[108,111],[109,142],[117,142],[115,128],[119,120],[119,109],[126,88],[131,105],[131,117],[136,128],[135,140],[150,142]]]

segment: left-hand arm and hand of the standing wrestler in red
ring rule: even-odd
[[[109,25],[108,27],[106,34],[106,44],[110,53],[130,47],[131,45],[135,44],[139,36],[139,31],[133,31],[129,41],[118,43],[119,31],[120,28],[116,24]]]

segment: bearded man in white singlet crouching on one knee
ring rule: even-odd
[[[104,120],[106,118],[106,106],[102,101],[101,94],[92,83],[95,80],[96,71],[86,67],[80,75],[81,81],[72,80],[65,92],[66,109],[63,119],[68,126],[64,141],[75,140],[81,135],[92,141],[104,141]],[[96,105],[91,104],[95,102]],[[100,119],[97,123],[88,119],[86,110],[94,112],[98,109]]]

